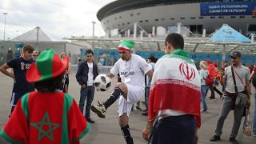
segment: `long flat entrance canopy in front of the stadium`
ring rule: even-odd
[[[121,39],[133,38],[70,38],[72,41],[85,41],[88,42],[93,49],[117,49]],[[184,49],[188,52],[196,53],[214,53],[222,54],[222,50],[225,49],[226,54],[234,50],[239,50],[242,54],[256,54],[256,43],[244,43],[244,42],[209,42],[208,38],[185,38]],[[134,50],[164,50],[165,38],[137,38],[134,40]]]

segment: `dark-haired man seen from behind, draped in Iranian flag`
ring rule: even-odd
[[[201,126],[200,76],[183,50],[182,35],[169,34],[165,46],[166,55],[154,67],[142,137],[152,144],[195,144]]]

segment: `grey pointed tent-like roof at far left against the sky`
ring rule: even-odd
[[[35,27],[24,34],[10,40],[15,42],[50,42],[52,41],[46,33],[44,33],[39,26]]]

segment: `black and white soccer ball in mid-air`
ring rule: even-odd
[[[98,74],[98,76],[94,80],[94,84],[96,90],[98,91],[106,91],[111,86],[111,79],[106,76],[106,74]]]

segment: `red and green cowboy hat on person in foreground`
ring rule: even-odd
[[[44,50],[26,71],[27,82],[39,82],[62,74],[69,63],[68,57],[63,60],[53,50]]]

